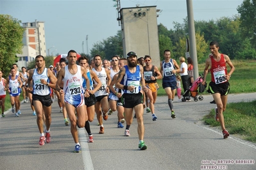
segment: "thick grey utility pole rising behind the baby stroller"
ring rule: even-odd
[[[187,0],[187,18],[189,21],[190,55],[194,65],[194,80],[198,78],[198,54],[196,53],[196,32],[194,31],[194,14],[192,0]]]

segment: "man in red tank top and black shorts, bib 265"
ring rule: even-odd
[[[202,84],[205,84],[207,73],[210,71],[211,81],[209,84],[209,89],[207,91],[209,93],[212,93],[212,97],[216,102],[217,107],[215,107],[214,109],[215,120],[219,121],[219,124],[222,128],[223,138],[225,139],[229,136],[229,133],[225,129],[223,112],[226,109],[228,92],[230,90],[229,80],[232,73],[235,71],[235,66],[232,64],[230,58],[227,55],[219,53],[218,42],[210,42],[209,46],[211,54],[209,55],[209,58],[207,58],[205,61],[205,70],[203,72]],[[229,72],[226,68],[226,64],[230,66]]]

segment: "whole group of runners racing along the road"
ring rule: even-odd
[[[210,49],[212,55],[209,56],[209,59],[212,59],[212,56],[223,58],[223,55],[218,53],[218,43],[210,43]],[[207,75],[208,67],[211,66],[212,76],[214,75],[215,78],[218,78],[216,77],[216,72],[220,71],[218,69],[214,70],[216,64],[212,65],[212,63],[209,63],[209,59],[206,62],[205,76]],[[223,79],[226,81],[224,82],[228,83],[231,74],[234,72],[234,66],[228,56],[225,55],[224,59],[225,63],[228,63],[231,68],[229,73],[226,72],[225,67],[221,71],[225,73],[225,78]],[[76,64],[77,60],[79,65]],[[17,117],[21,114],[19,94],[21,93],[22,86],[27,85],[24,91],[24,101],[26,102],[28,98],[30,99],[33,115],[37,115],[37,125],[40,132],[39,144],[44,145],[45,141],[49,143],[51,141],[51,104],[53,102],[51,93],[53,93],[53,89],[58,98],[60,112],[64,115],[64,123],[66,126],[71,125],[71,134],[75,143],[74,152],[79,153],[81,151],[77,127],[85,127],[89,135],[88,142],[94,142],[89,122],[94,120],[96,112],[99,134],[104,134],[103,120],[108,120],[107,112],[109,109],[117,111],[118,128],[124,128],[122,123],[124,123],[123,119],[125,119],[124,136],[130,136],[129,128],[132,125],[133,110],[135,111],[138,124],[139,149],[146,150],[147,146],[143,141],[144,104],[146,102],[147,108],[152,113],[152,120],[156,121],[157,115],[155,114],[154,104],[159,88],[157,79],[162,79],[162,87],[168,97],[167,103],[171,111],[171,118],[176,118],[172,100],[176,89],[175,74],[180,72],[180,68],[175,59],[171,59],[170,50],[164,51],[164,61],[160,63],[160,71],[157,66],[151,64],[150,56],[145,56],[143,60],[146,63],[145,65],[142,62],[138,64],[137,54],[135,52],[128,52],[126,58],[113,56],[111,58],[111,67],[108,68],[108,66],[102,66],[103,61],[99,55],[94,56],[89,65],[88,58],[81,56],[78,59],[76,51],[70,50],[67,54],[67,65],[66,59],[61,59],[60,62],[56,63],[56,72],[46,68],[44,56],[40,55],[35,58],[36,68],[30,70],[26,75],[17,71],[17,65],[14,64],[7,79],[2,77],[3,73],[0,71],[2,116],[4,117],[6,90],[10,93],[12,112]],[[223,62],[223,59],[221,61],[214,59],[211,62],[213,61],[218,63]],[[22,67],[23,71],[26,72],[26,68],[23,69]],[[205,79],[206,77],[204,77],[203,83],[205,83]],[[229,84],[225,87],[219,87],[220,83],[214,81],[215,79],[212,79],[209,89],[218,105],[216,120],[220,121],[221,127],[223,127],[223,137],[226,138],[229,134],[225,130],[222,112],[225,111]],[[223,90],[223,88],[225,89]],[[221,92],[219,92],[220,89]],[[45,130],[44,124],[46,125]]]

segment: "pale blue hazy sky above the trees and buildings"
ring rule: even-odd
[[[162,10],[157,18],[167,29],[173,29],[173,22],[183,23],[187,17],[186,0],[121,0],[121,8],[157,6]],[[232,17],[243,0],[194,0],[192,1],[194,20]],[[116,35],[121,29],[117,22],[117,10],[113,0],[0,0],[0,13],[12,15],[22,22],[45,22],[46,49],[53,54],[66,54],[70,49],[87,53],[94,43]]]

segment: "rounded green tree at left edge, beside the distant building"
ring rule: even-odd
[[[17,62],[15,55],[22,53],[23,33],[21,20],[13,19],[10,15],[0,15],[0,70],[4,76]]]

